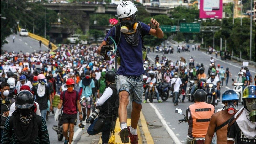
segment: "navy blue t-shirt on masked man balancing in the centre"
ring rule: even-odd
[[[142,34],[149,35],[150,26],[142,23]],[[111,32],[112,31],[112,32]],[[115,29],[114,27],[111,28],[107,35],[105,36],[104,41],[107,40],[108,36],[111,36],[113,39],[115,38]],[[130,45],[122,32],[119,45],[117,46],[117,51],[120,56],[120,67],[116,74],[123,75],[123,76],[139,76],[145,73],[143,68],[143,58],[142,58],[142,38],[139,36],[139,44],[138,46]],[[112,44],[112,42],[110,42]]]

